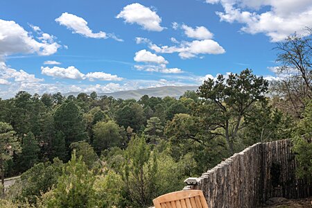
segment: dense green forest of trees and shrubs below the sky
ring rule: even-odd
[[[244,69],[180,98],[0,99],[0,207],[149,207],[252,144],[290,138],[298,177],[312,180],[311,46],[297,35],[277,44],[275,80]]]

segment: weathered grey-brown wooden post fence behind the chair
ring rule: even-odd
[[[254,144],[184,189],[202,190],[209,207],[257,207],[272,197],[309,197],[312,184],[295,177],[291,146],[290,139]]]

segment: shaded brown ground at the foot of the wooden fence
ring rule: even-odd
[[[288,200],[286,198],[271,198],[266,202],[267,206],[275,208],[309,208],[312,207],[312,197]]]

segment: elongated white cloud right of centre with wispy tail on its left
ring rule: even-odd
[[[137,37],[137,43],[147,43],[148,47],[156,53],[178,53],[180,58],[194,58],[200,54],[222,54],[225,49],[214,40],[193,40],[181,42],[175,46],[157,46],[150,40]]]

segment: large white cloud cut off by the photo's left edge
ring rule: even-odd
[[[37,53],[38,55],[56,53],[60,45],[54,41],[53,35],[42,33],[39,27],[33,26],[33,28],[35,32],[39,30],[42,35],[37,37],[37,40],[15,21],[0,19],[0,56],[14,53]]]

